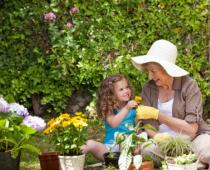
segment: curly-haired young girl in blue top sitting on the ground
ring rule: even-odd
[[[119,146],[113,147],[115,132],[129,134],[131,131],[125,125],[135,124],[134,108],[138,104],[131,100],[132,94],[131,85],[123,75],[110,76],[102,82],[97,95],[97,110],[105,122],[104,143],[88,140],[81,147],[82,153],[92,153],[97,159],[104,161],[104,153],[110,149],[119,151]]]

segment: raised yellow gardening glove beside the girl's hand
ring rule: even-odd
[[[136,108],[136,119],[158,119],[159,110],[150,107],[140,105]]]

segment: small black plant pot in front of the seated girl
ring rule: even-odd
[[[104,154],[104,161],[105,161],[105,166],[114,166],[115,168],[118,167],[118,160],[120,157],[120,152],[107,152]]]

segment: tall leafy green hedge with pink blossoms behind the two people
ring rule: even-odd
[[[207,0],[0,3],[0,94],[9,101],[31,107],[38,94],[49,112],[60,112],[75,90],[93,93],[117,72],[140,93],[146,77],[130,58],[145,54],[157,39],[177,45],[177,63],[198,81],[204,103],[210,94]]]

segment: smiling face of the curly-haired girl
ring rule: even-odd
[[[114,94],[118,101],[127,102],[131,98],[131,89],[128,86],[128,82],[122,79],[114,83]]]

